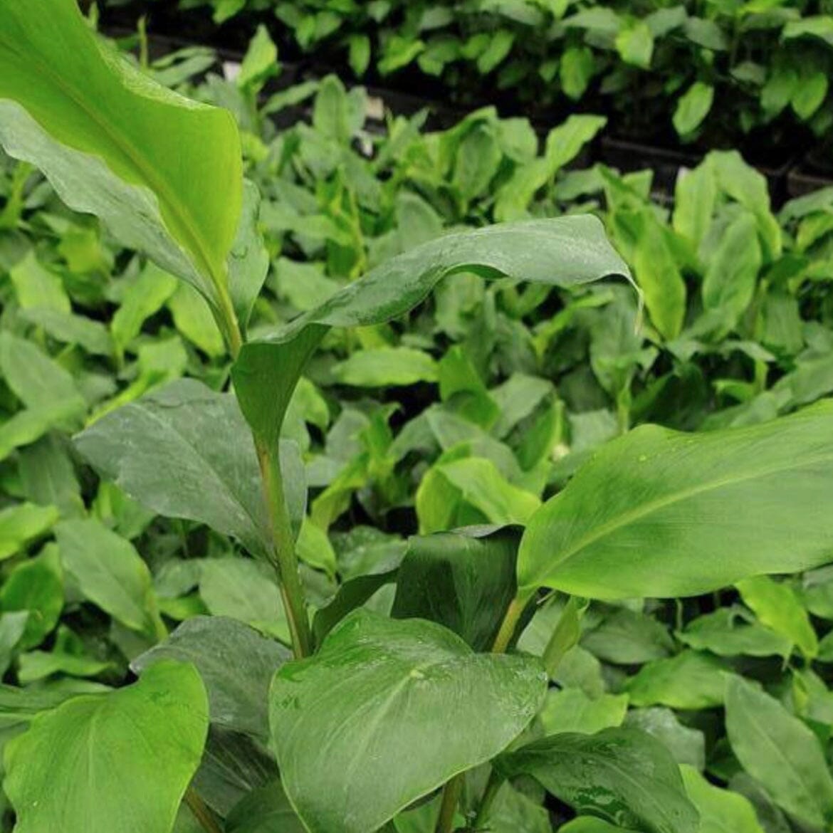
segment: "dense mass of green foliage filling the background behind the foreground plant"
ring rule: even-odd
[[[716,150],[669,201],[651,170],[593,163],[609,121],[638,132],[639,120],[670,120],[707,140],[781,119],[829,141],[825,3],[218,0],[212,12],[274,13],[305,50],[323,44],[335,61],[347,49],[359,75],[415,63],[458,100],[479,73],[482,91],[496,82],[517,110],[566,97],[605,113],[541,130],[485,107],[437,130],[425,112],[380,112],[336,75],[276,86],[265,28],[239,72],[204,47],[147,62],[242,130],[270,256],[253,333],[443,232],[529,216],[596,213],[644,293],[642,309],[624,283],[566,291],[462,273],[408,317],[327,336],[285,426],[312,488],[298,551],[318,634],[352,606],[391,611],[408,536],[523,524],[632,426],[751,425],[833,392],[833,187],[774,207],[761,172]],[[202,298],[0,157],[0,300],[3,681],[55,702],[120,686],[131,661],[206,614],[287,643],[269,571],[206,526],[99,481],[70,442],[178,378],[227,385]],[[424,611],[410,603],[400,615]],[[557,595],[542,604],[521,648],[540,652],[562,607]],[[821,830],[833,806],[831,622],[827,567],[685,600],[593,603],[530,731],[650,732],[685,766],[703,833],[728,818],[737,833]],[[770,693],[739,682],[726,703],[729,674]],[[22,728],[8,708],[4,738]],[[256,828],[236,826],[246,813],[234,808],[275,776],[253,744],[213,729],[197,776],[237,833]],[[559,828],[571,804],[545,805],[521,780],[502,788],[491,830],[603,829]],[[431,831],[436,811],[427,801],[395,829]],[[6,829],[11,820],[9,808]],[[184,810],[178,825],[197,829]]]

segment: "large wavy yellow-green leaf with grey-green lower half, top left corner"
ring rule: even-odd
[[[227,311],[242,203],[234,118],[122,60],[75,0],[0,2],[0,144]]]

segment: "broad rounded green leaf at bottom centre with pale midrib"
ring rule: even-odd
[[[536,661],[478,655],[431,622],[356,611],[272,682],[284,789],[311,833],[375,831],[502,751],[545,689]]]

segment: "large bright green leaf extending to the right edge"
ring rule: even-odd
[[[833,403],[748,428],[642,426],[526,528],[518,585],[600,599],[694,596],[833,557]]]

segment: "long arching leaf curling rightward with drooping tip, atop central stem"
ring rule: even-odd
[[[232,376],[255,436],[277,447],[283,416],[307,359],[331,327],[364,327],[403,315],[454,272],[574,286],[629,275],[595,217],[504,223],[449,234],[394,257],[271,337],[243,347]]]

